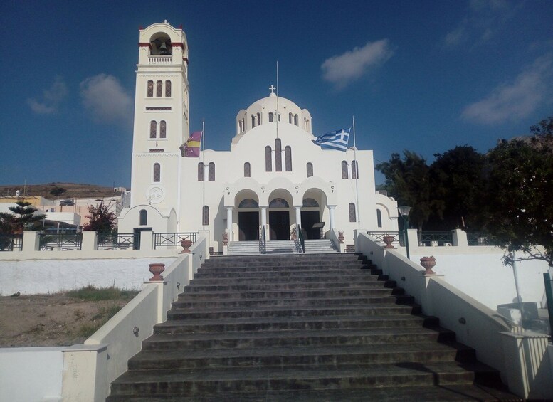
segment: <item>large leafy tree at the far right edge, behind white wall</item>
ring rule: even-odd
[[[540,133],[530,140],[502,142],[490,151],[482,213],[485,229],[495,243],[509,252],[524,253],[517,260],[545,260],[553,266],[550,135]]]

